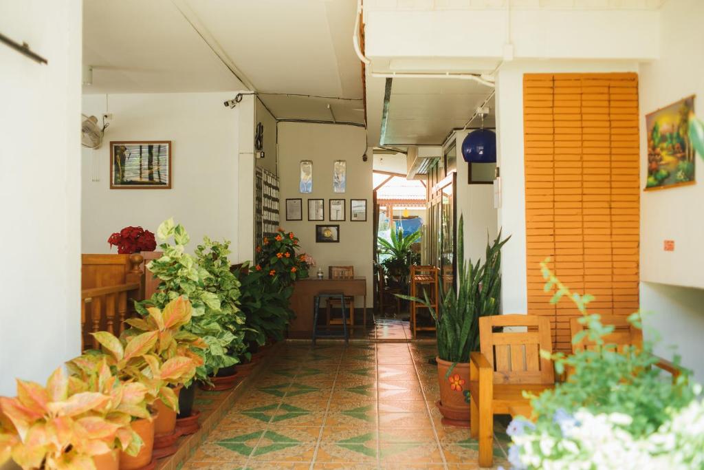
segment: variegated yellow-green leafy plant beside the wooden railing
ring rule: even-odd
[[[148,267],[153,275],[161,280],[157,292],[150,299],[137,303],[137,311],[147,315],[148,307],[163,308],[168,302],[183,296],[191,302],[192,317],[183,328],[189,333],[198,335],[206,342],[206,347],[201,350],[203,365],[196,370],[196,378],[208,381],[208,376],[217,373],[222,367],[237,364],[234,351],[239,347],[237,335],[232,333],[236,328],[238,317],[232,311],[221,310],[220,305],[220,280],[213,278],[208,272],[208,267],[215,270],[220,268],[222,260],[213,265],[199,260],[185,252],[190,237],[181,224],[175,224],[173,219],[168,219],[159,225],[156,231],[159,245],[163,255],[150,261]],[[169,240],[173,240],[170,244]],[[201,255],[212,252],[212,242],[202,245]],[[216,249],[220,249],[218,247]],[[217,266],[215,266],[217,265]],[[234,285],[227,287],[228,301],[235,294],[232,293]],[[188,384],[186,384],[188,385]]]

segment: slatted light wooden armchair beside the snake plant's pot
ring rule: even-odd
[[[501,327],[517,331],[498,331]],[[479,319],[482,352],[470,353],[470,434],[479,439],[479,466],[494,464],[494,415],[529,407],[523,390],[539,395],[555,385],[550,321],[545,316],[496,315]]]

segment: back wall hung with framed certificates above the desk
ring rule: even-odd
[[[354,266],[355,276],[367,278],[367,307],[372,307],[372,161],[362,161],[365,129],[350,125],[279,123],[279,174],[281,176],[281,225],[301,239],[301,248],[315,258],[327,278],[328,266]],[[313,192],[298,192],[301,160],[313,161]],[[345,160],[346,192],[332,192],[332,166]],[[285,199],[303,199],[303,221],[286,220]],[[346,221],[331,222],[330,199],[346,199]],[[325,199],[325,221],[308,221],[308,199]],[[350,221],[350,199],[367,199],[367,221]],[[339,243],[316,243],[315,225],[339,224]],[[358,301],[357,306],[361,306]]]

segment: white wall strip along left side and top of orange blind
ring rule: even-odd
[[[511,240],[503,247],[501,305],[504,312],[528,311],[526,273],[525,173],[523,147],[524,73],[633,72],[634,62],[514,61],[496,78],[496,145],[501,168],[498,225]],[[531,266],[536,272],[539,266]]]

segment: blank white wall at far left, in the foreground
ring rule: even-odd
[[[80,353],[81,2],[0,2],[0,395]]]

